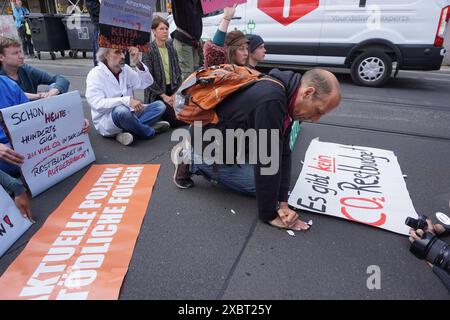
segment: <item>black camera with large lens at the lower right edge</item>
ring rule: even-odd
[[[450,246],[436,235],[426,231],[428,229],[427,217],[424,215],[419,216],[418,219],[409,217],[405,224],[414,230],[422,229],[425,231],[420,240],[411,244],[409,249],[411,253],[450,274]]]

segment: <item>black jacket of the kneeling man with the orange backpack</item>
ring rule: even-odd
[[[258,213],[263,221],[277,217],[278,201],[287,201],[291,176],[289,139],[292,123],[284,130],[284,120],[290,99],[296,92],[301,76],[292,71],[272,70],[269,75],[282,82],[285,88],[271,81],[259,81],[253,86],[227,98],[216,112],[221,129],[276,129],[280,130],[279,163],[275,175],[261,175],[260,163],[255,166],[255,186]],[[270,134],[269,134],[270,137]],[[270,138],[268,143],[270,149]],[[259,162],[259,161],[258,161]]]

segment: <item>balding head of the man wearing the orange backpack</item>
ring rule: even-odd
[[[340,102],[340,85],[334,74],[323,69],[312,69],[302,77],[293,116],[295,120],[316,122]]]

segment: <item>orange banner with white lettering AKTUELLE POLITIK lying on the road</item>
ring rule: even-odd
[[[159,165],[94,165],[0,278],[0,299],[117,299]]]

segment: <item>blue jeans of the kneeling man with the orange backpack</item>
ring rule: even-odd
[[[219,184],[247,196],[256,196],[254,165],[217,164],[215,166],[214,172],[214,165],[192,163],[191,173],[202,175],[209,181],[216,180]]]

